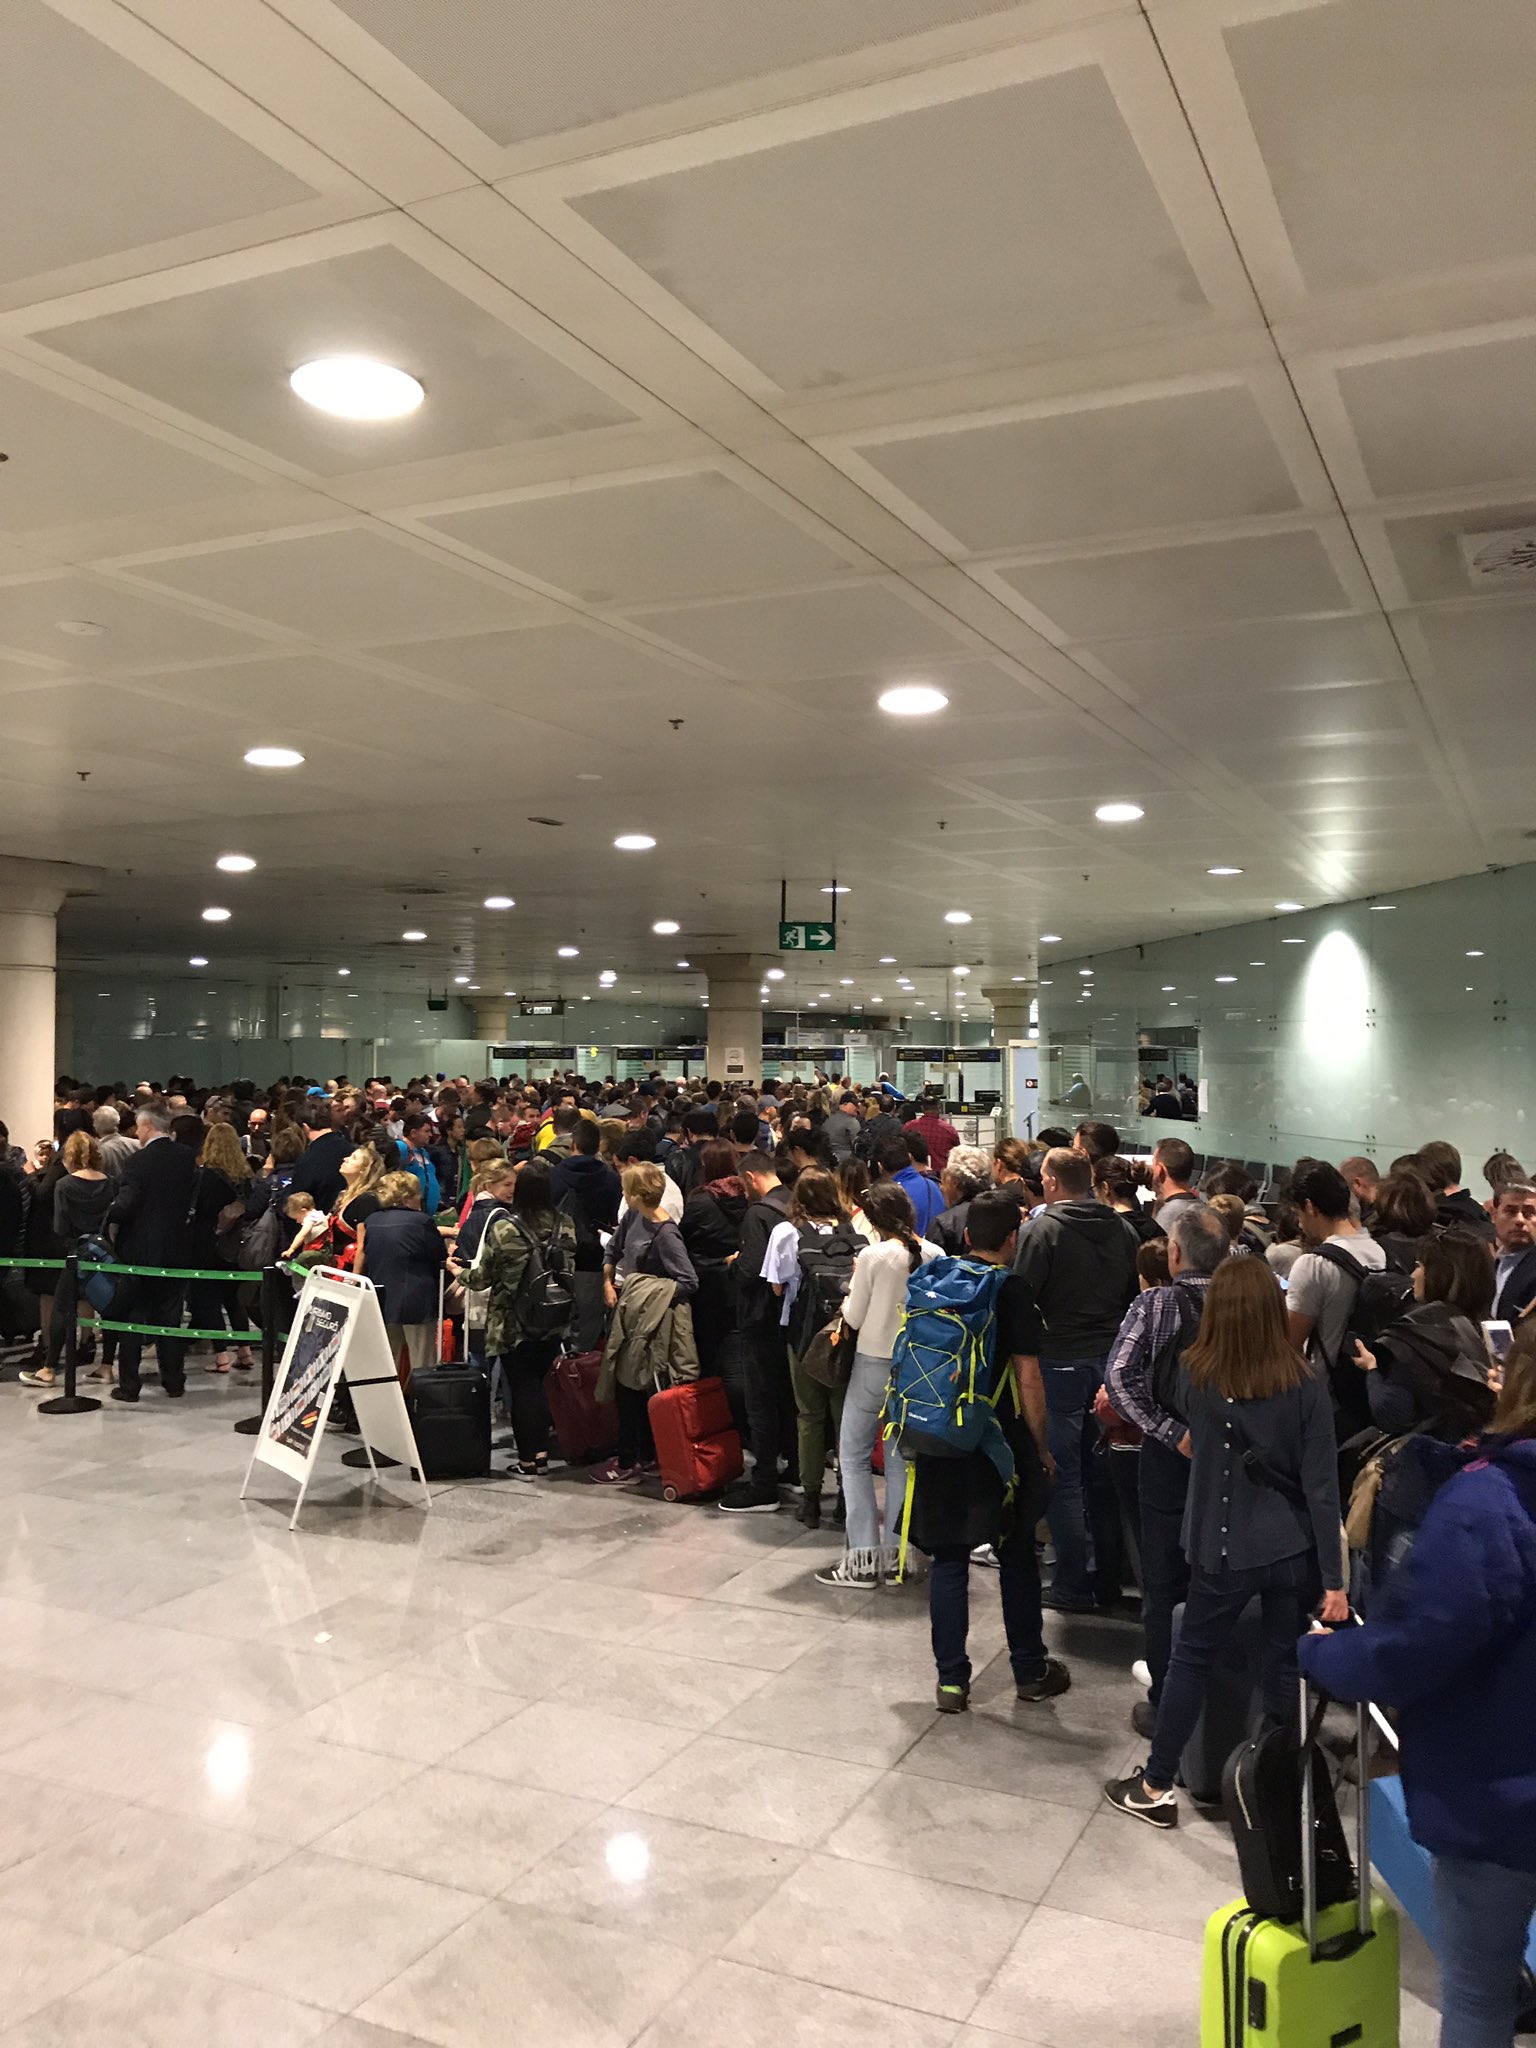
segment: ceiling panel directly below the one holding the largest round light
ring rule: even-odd
[[[418,555],[377,528],[219,547],[133,563],[125,573],[289,633],[352,645],[397,639],[412,629],[512,625],[537,612],[520,592],[467,575],[442,557]]]

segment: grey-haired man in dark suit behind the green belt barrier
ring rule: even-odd
[[[123,1165],[123,1186],[109,1212],[115,1227],[113,1257],[121,1266],[190,1266],[190,1208],[197,1194],[197,1157],[170,1139],[170,1116],[162,1108],[139,1106],[135,1118],[139,1149]],[[119,1280],[113,1321],[178,1327],[184,1280]],[[186,1393],[186,1341],[156,1337],[160,1384],[172,1401]],[[113,1401],[139,1399],[139,1356],[143,1337],[123,1331],[117,1339],[117,1386]]]

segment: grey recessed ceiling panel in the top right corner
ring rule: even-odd
[[[1313,291],[1536,256],[1526,0],[1329,0],[1227,29]]]

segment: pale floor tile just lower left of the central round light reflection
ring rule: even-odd
[[[258,1991],[352,2011],[479,1907],[469,1892],[301,1849],[154,1950]]]

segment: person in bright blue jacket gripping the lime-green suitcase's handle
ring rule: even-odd
[[[1536,1915],[1536,1321],[1489,1432],[1442,1456],[1370,1620],[1307,1636],[1300,1665],[1335,1700],[1397,1710],[1409,1829],[1434,1858],[1440,2044],[1509,2048]]]

